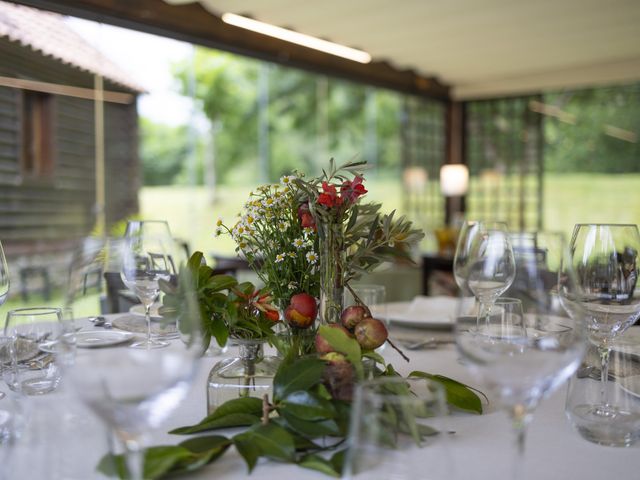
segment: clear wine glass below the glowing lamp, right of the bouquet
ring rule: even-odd
[[[457,265],[456,281],[463,290],[468,288],[480,304],[478,323],[483,318],[488,321],[495,299],[515,278],[507,225],[501,222],[470,224],[468,233],[458,243],[454,265]]]

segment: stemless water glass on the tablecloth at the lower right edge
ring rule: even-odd
[[[601,378],[601,359],[591,345],[571,378],[565,413],[585,439],[599,445],[628,447],[640,437],[640,327],[631,327],[610,344],[609,372]],[[603,405],[603,389],[606,405]],[[598,412],[598,410],[604,410]]]

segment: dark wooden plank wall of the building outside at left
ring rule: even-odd
[[[91,87],[86,72],[0,40],[0,75]],[[105,82],[105,88],[118,87]],[[119,89],[123,90],[123,89]],[[0,240],[16,253],[64,248],[94,225],[94,104],[55,96],[54,171],[30,179],[21,167],[22,91],[0,87]],[[135,104],[105,104],[107,221],[137,211],[139,168]]]

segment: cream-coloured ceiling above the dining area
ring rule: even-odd
[[[639,0],[200,3],[363,49],[437,78],[458,99],[640,81]]]

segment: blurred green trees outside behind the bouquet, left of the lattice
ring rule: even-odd
[[[174,73],[180,93],[196,99],[210,129],[190,139],[186,127],[143,119],[145,185],[188,184],[190,142],[199,185],[212,168],[207,155],[215,157],[220,184],[276,181],[294,168],[316,175],[330,156],[358,155],[381,169],[398,168],[397,93],[204,48]]]

